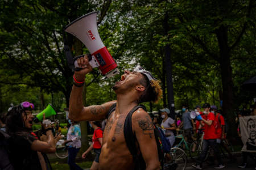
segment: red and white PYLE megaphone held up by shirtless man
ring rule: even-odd
[[[94,11],[77,18],[69,23],[64,31],[71,33],[73,36],[76,36],[77,39],[82,41],[92,54],[92,59],[89,62],[90,65],[92,67],[99,67],[101,74],[110,78],[115,74],[118,74],[119,70],[117,69],[117,63],[115,63],[98,34],[97,13],[98,12]],[[65,52],[67,51],[65,47],[64,50]],[[77,56],[74,59],[82,56]],[[74,65],[75,68],[79,68],[76,61],[74,61]]]

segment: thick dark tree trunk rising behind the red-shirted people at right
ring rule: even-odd
[[[228,47],[228,28],[223,25],[217,29],[218,46],[220,48],[220,67],[222,80],[223,113],[228,120],[228,134],[236,137],[235,116],[233,114],[233,80],[230,53]]]

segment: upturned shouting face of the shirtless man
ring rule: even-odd
[[[121,76],[121,80],[119,82],[115,82],[115,85],[112,87],[115,92],[124,93],[127,90],[130,91],[131,88],[134,88],[139,83],[143,77],[141,73],[137,71],[127,71],[125,70],[125,74]]]

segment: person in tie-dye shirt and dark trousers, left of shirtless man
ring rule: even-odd
[[[75,122],[71,119],[68,120],[71,126],[68,129],[67,140],[63,145],[68,146],[68,165],[71,170],[82,170],[79,165],[75,163],[76,155],[81,148],[81,129],[79,122]]]

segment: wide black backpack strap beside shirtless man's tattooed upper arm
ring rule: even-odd
[[[139,108],[143,108],[145,111],[147,111],[146,108],[143,105],[136,105],[127,114],[127,116],[125,118],[125,124],[123,126],[123,134],[125,135],[125,142],[126,142],[126,145],[129,149],[129,151],[131,152],[131,155],[133,155],[133,160],[134,160],[134,163],[135,163],[135,169],[141,168],[141,159],[143,159],[143,158],[142,157],[139,158],[139,155],[138,155],[138,150],[137,150],[136,143],[135,143],[136,142],[136,136],[135,136],[135,134],[133,134],[133,127],[132,127],[132,124],[131,124],[131,117],[133,116],[133,113],[135,111],[137,111],[137,109],[139,109]]]

